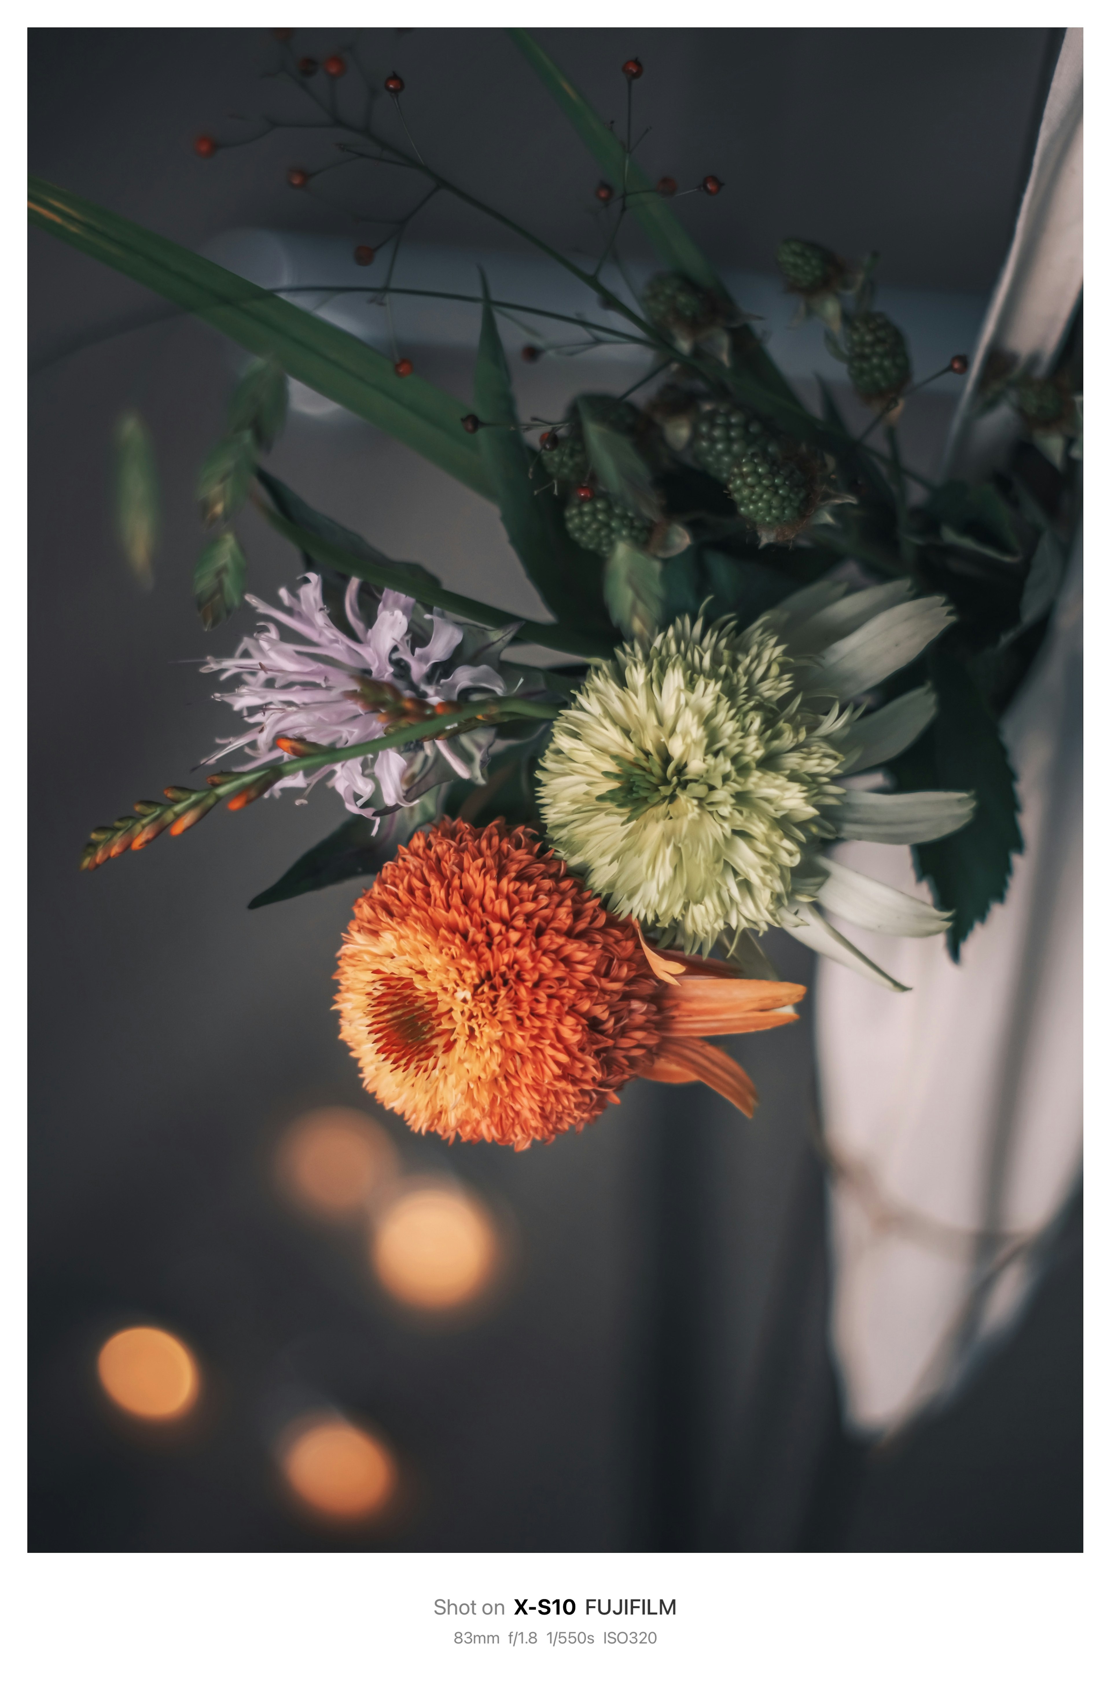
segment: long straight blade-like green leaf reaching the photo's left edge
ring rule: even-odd
[[[419,375],[398,380],[390,360],[355,334],[35,176],[29,214],[35,228],[172,299],[248,351],[272,354],[294,380],[373,422],[483,498],[493,496],[478,444],[459,425],[459,402]]]

